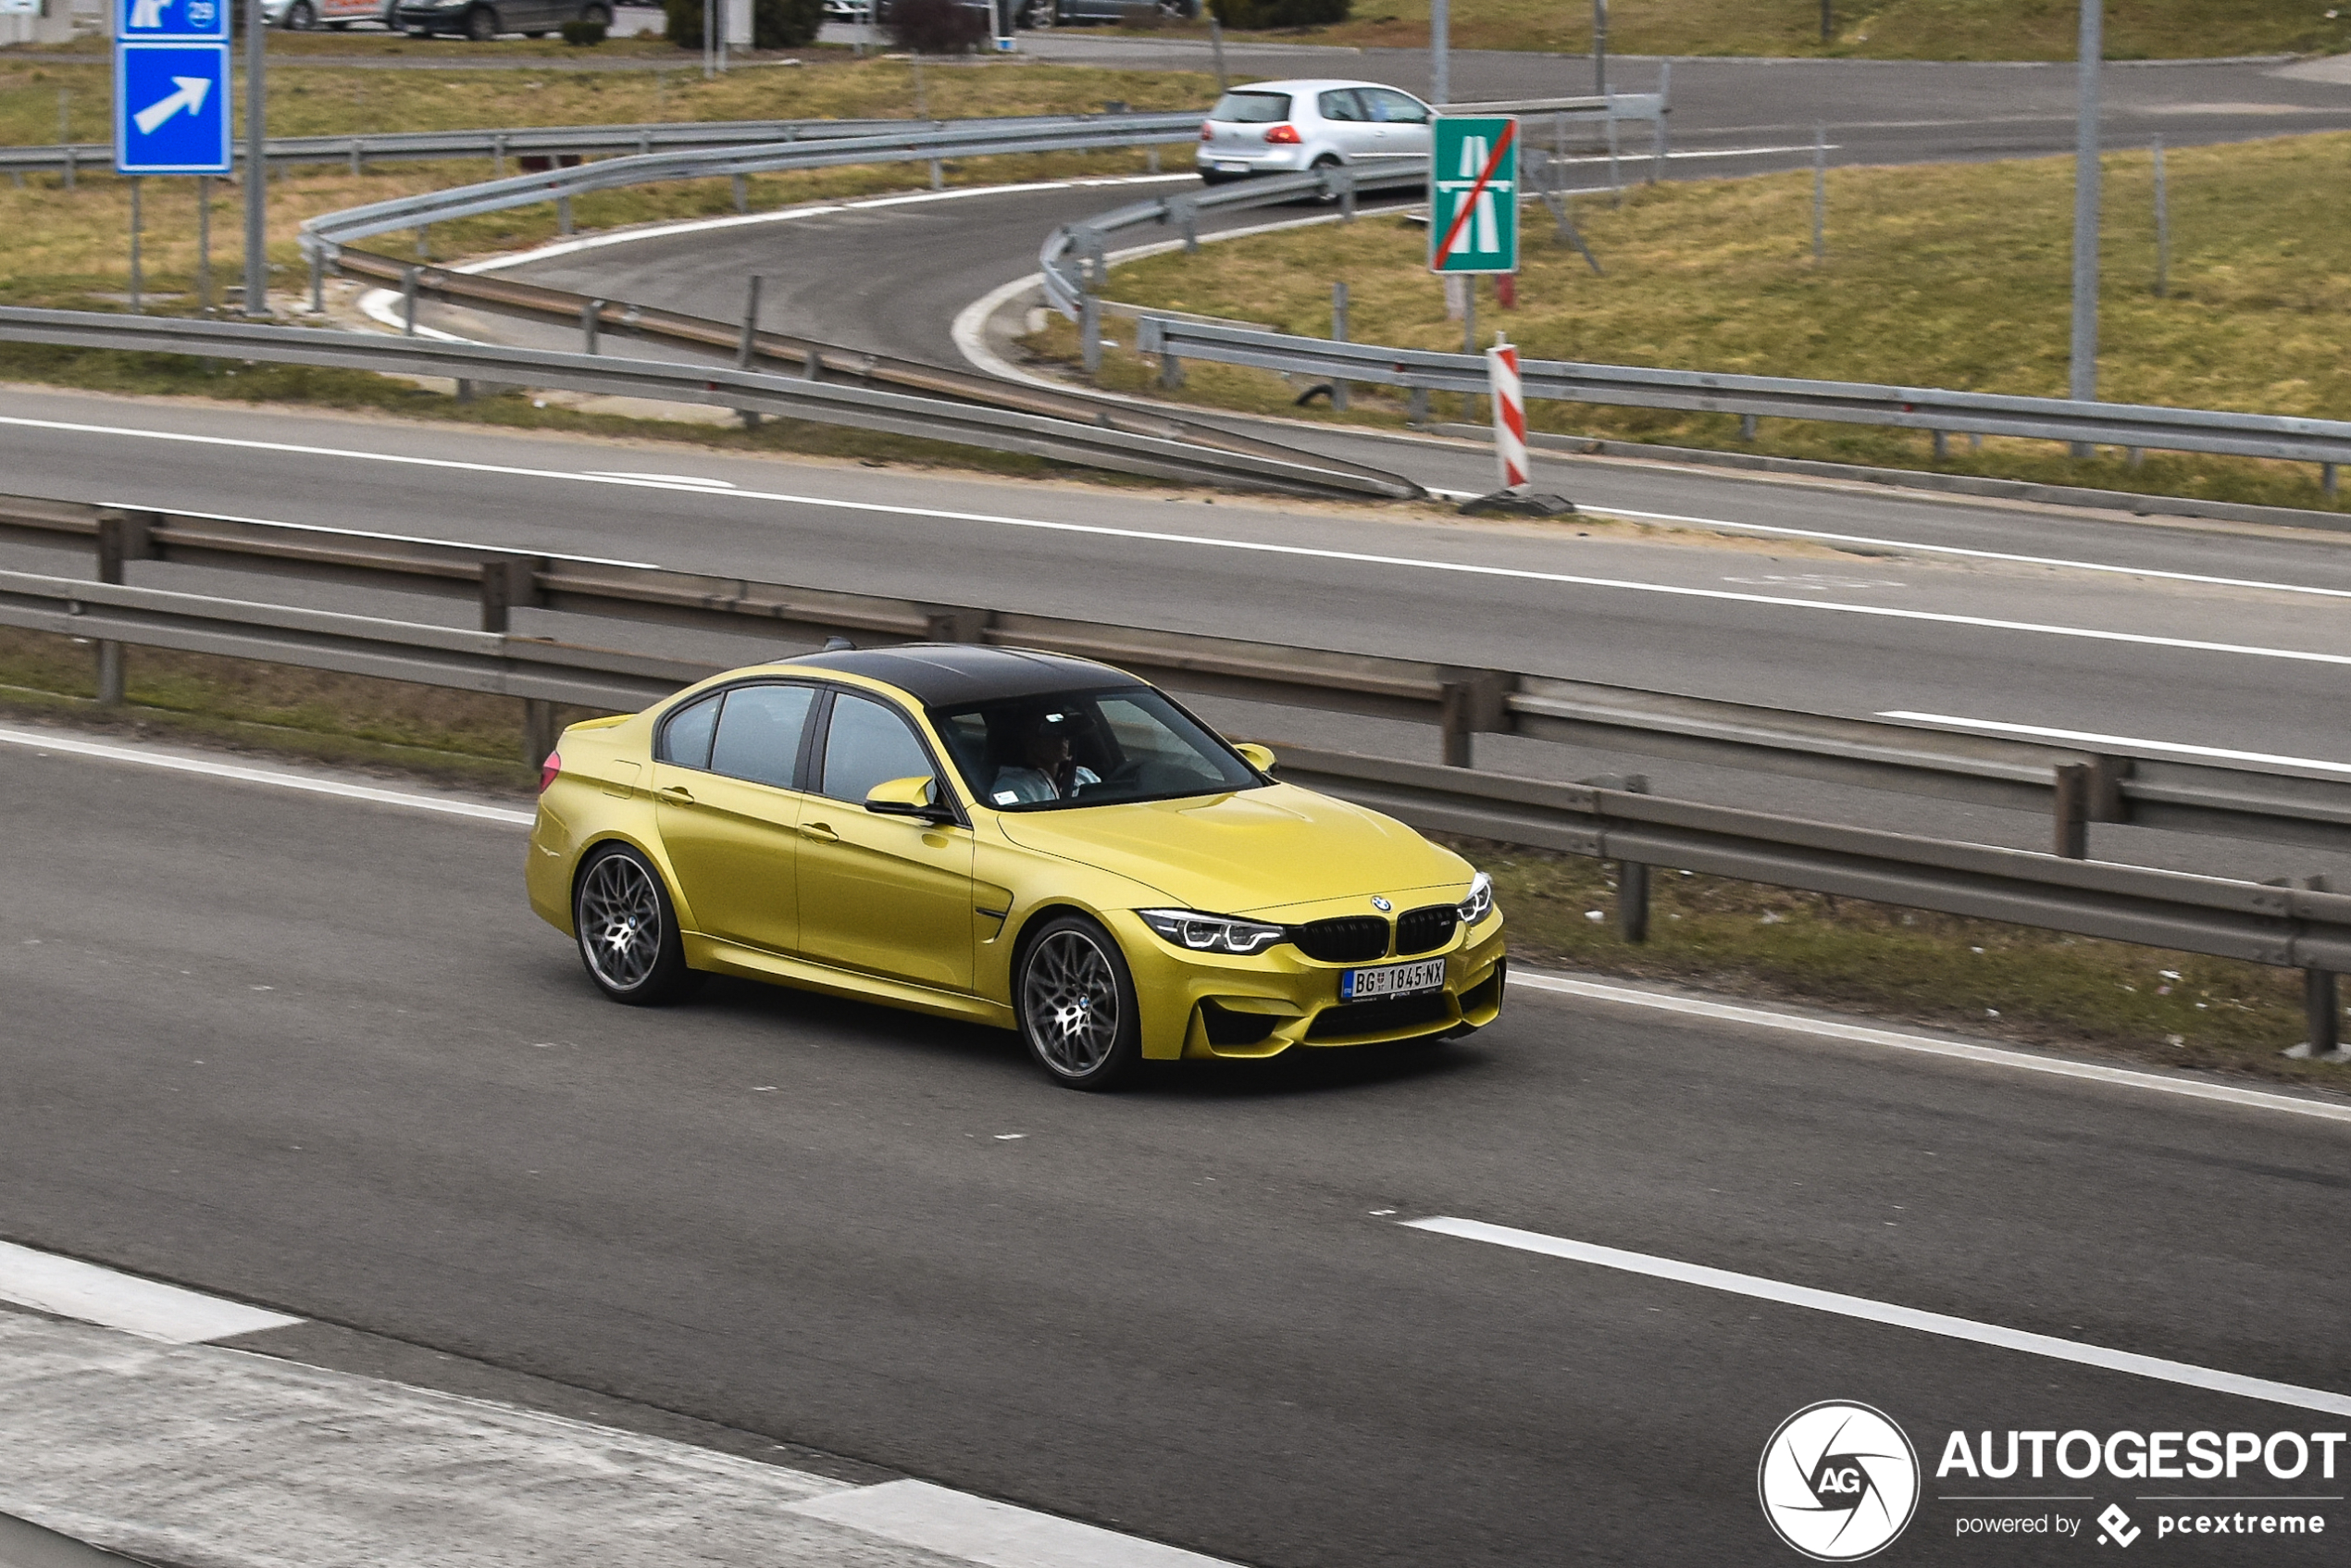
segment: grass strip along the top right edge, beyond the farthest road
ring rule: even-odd
[[[2327,12],[2342,12],[2330,16]],[[2074,0],[1610,0],[1613,54],[1766,54],[1817,59],[2074,59]],[[1592,52],[1582,0],[1458,0],[1455,49]],[[1427,47],[1429,0],[1354,0],[1354,16],[1284,33],[1368,47]],[[2351,49],[2351,9],[2330,0],[2109,0],[2106,59],[2215,59]]]

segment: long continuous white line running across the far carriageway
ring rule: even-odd
[[[489,473],[520,480],[562,480],[571,484],[630,484],[642,489],[682,487],[651,480],[618,480],[597,473],[564,473],[555,468],[520,468],[513,463],[465,463],[458,458],[423,458],[393,451],[350,451],[341,447],[306,447],[299,442],[261,442],[230,435],[188,435],[181,430],[132,430],[125,425],[87,425],[61,418],[0,416],[0,425],[21,430],[66,430],[75,435],[132,435],[158,442],[183,442],[193,447],[235,447],[247,451],[284,451],[294,456],[348,458],[357,463],[393,463],[407,468],[444,468],[454,473]],[[1091,534],[1098,538],[1128,538],[1154,545],[1190,545],[1197,550],[1246,550],[1255,555],[1288,555],[1298,559],[1345,562],[1352,567],[1396,567],[1406,571],[1451,571],[1460,576],[1509,578],[1519,583],[1559,583],[1566,588],[1599,588],[1608,592],[1653,592],[1672,599],[1712,599],[1719,604],[1759,604],[1766,609],[1801,609],[1817,616],[1864,616],[1878,621],[1911,621],[1925,625],[1963,625],[1991,632],[2029,632],[2034,637],[2071,637],[2081,642],[2118,642],[2125,646],[2175,649],[2186,654],[2229,654],[2238,658],[2280,658],[2288,663],[2351,665],[2351,654],[2318,654],[2311,649],[2271,649],[2245,642],[2208,642],[2201,637],[2158,637],[2154,632],[2116,632],[2090,625],[2055,625],[2045,621],[2005,621],[1998,616],[1961,616],[1935,609],[1895,609],[1890,604],[1838,604],[1834,599],[1789,599],[1763,592],[1730,592],[1726,588],[1686,588],[1679,583],[1636,583],[1629,578],[1580,576],[1573,571],[1535,571],[1528,567],[1479,567],[1472,562],[1444,562],[1411,555],[1378,555],[1371,550],[1324,550],[1314,545],[1277,545],[1262,538],[1215,538],[1206,534],[1171,534],[1164,529],[1114,529],[1093,522],[1049,522],[1044,517],[1006,517],[1002,512],[964,512],[938,505],[900,505],[884,501],[839,501],[835,496],[797,496],[790,491],[738,489],[729,501],[773,501],[781,505],[832,508],[842,512],[872,512],[882,517],[922,517],[931,522],[976,522],[1004,529],[1041,529],[1049,534]]]

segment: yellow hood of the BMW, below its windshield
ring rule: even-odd
[[[1009,811],[1023,849],[1143,882],[1173,905],[1260,914],[1324,898],[1467,884],[1469,863],[1404,823],[1295,785],[1187,799]]]

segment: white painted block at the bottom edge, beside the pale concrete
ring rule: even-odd
[[[783,1512],[987,1568],[1232,1568],[1220,1556],[1161,1547],[1138,1535],[955,1493],[929,1481],[858,1486],[806,1502],[785,1502]]]

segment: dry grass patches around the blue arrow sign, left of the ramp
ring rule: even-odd
[[[383,35],[273,38],[273,47],[341,52],[371,47],[376,54],[409,49],[442,56],[473,45],[435,45]],[[560,47],[560,45],[557,45]],[[663,45],[668,47],[668,45]],[[505,49],[498,45],[496,49]],[[576,63],[583,52],[569,52]],[[54,143],[59,94],[66,94],[68,134],[103,141],[108,132],[108,75],[101,56],[33,52],[0,59],[0,143]],[[924,108],[933,115],[1023,115],[1098,110],[1107,99],[1136,108],[1185,108],[1213,96],[1213,78],[1185,73],[1119,73],[1060,66],[926,68]],[[635,125],[670,120],[759,118],[886,118],[915,113],[912,66],[903,61],[849,61],[839,52],[811,56],[802,68],[736,71],[715,82],[698,71],[360,71],[303,66],[270,80],[270,132],[280,136],[468,129],[494,125]],[[947,162],[947,183],[994,183],[1056,179],[1067,174],[1140,172],[1145,155],[1051,155],[978,158]],[[289,169],[270,181],[270,268],[277,289],[299,289],[303,263],[294,244],[303,219],[362,202],[463,181],[489,179],[487,160],[440,165],[381,165],[362,174],[339,167]],[[825,169],[811,174],[762,174],[750,179],[752,209],[806,200],[837,200],[882,190],[919,188],[922,165]],[[212,242],[214,287],[235,282],[242,268],[237,190],[214,186]],[[143,186],[143,287],[158,313],[195,310],[197,190],[193,179],[150,179]],[[635,190],[585,195],[574,205],[581,228],[616,228],[656,219],[689,219],[734,212],[729,181],[679,181]],[[61,176],[31,176],[21,186],[0,183],[0,303],[118,310],[129,287],[129,181],[82,174],[68,190]],[[480,256],[555,237],[552,207],[437,226],[433,254]],[[376,247],[411,254],[409,235],[383,235]],[[421,393],[402,381],[355,371],[320,371],[172,355],[80,353],[59,348],[0,346],[0,378],[47,381],[122,393],[200,393],[240,402],[299,402],[346,409],[383,409],[430,418],[465,418],[494,425],[543,425],[604,435],[656,435],[665,440],[722,442],[764,451],[964,463],[999,473],[1039,473],[1034,458],[973,454],[957,447],[910,442],[858,430],[769,421],[759,430],[722,430],[663,421],[616,421],[538,409],[529,397],[484,397],[458,409],[449,397]]]

